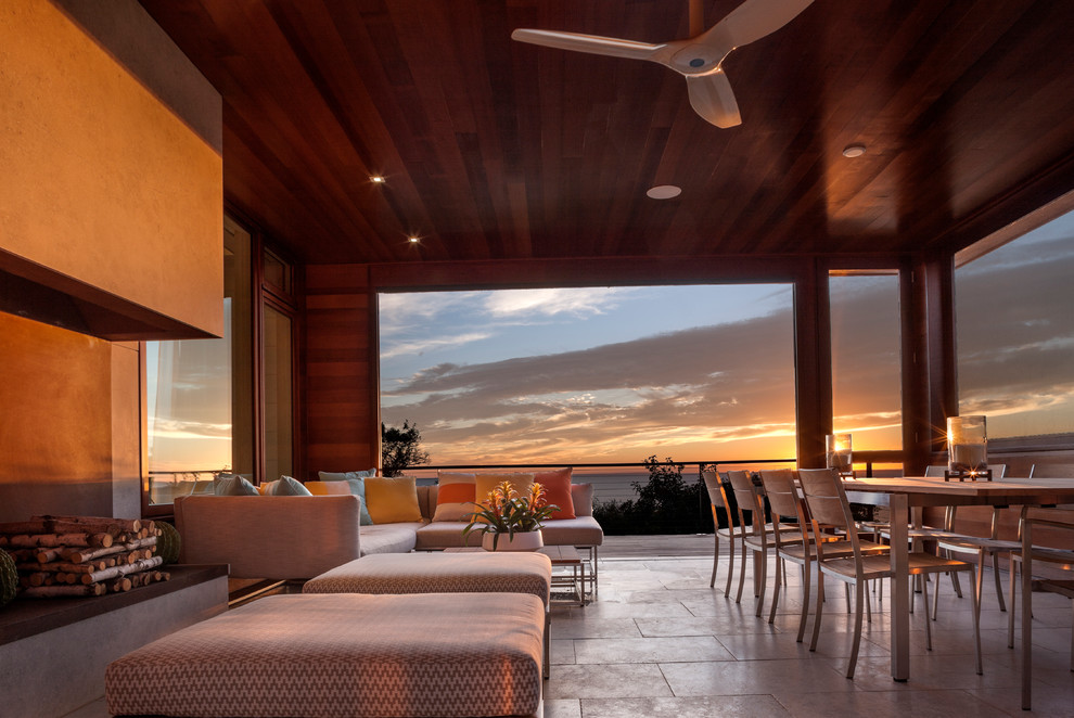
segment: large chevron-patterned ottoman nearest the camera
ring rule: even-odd
[[[116,716],[528,716],[545,604],[511,593],[273,595],[108,665]]]

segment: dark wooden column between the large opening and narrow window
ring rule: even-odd
[[[803,266],[794,284],[794,390],[797,462],[824,465],[824,435],[832,431],[832,337],[828,268]]]

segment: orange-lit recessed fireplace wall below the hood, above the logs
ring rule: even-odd
[[[137,350],[0,313],[0,521],[138,516]]]

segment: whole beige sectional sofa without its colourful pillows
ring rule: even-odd
[[[437,521],[436,486],[418,486],[421,521],[361,525],[357,496],[190,496],[176,499],[181,563],[230,564],[232,578],[308,579],[370,553],[462,547],[464,522]],[[547,546],[596,549],[604,531],[592,516],[590,484],[573,484],[575,518],[549,520]],[[481,534],[469,536],[480,546]]]

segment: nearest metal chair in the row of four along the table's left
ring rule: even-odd
[[[851,503],[846,499],[843,482],[838,474],[830,469],[800,469],[798,479],[802,484],[802,495],[806,509],[809,512],[809,521],[814,534],[819,534],[820,526],[823,524],[835,526],[846,534],[846,538],[851,543],[852,554],[849,556],[832,555],[827,553],[823,542],[816,544],[817,565],[820,572],[817,585],[817,615],[814,619],[813,641],[809,644],[809,650],[817,650],[817,640],[820,637],[820,621],[823,614],[824,576],[831,576],[836,580],[853,586],[855,592],[854,648],[851,651],[846,677],[854,678],[854,667],[857,664],[858,649],[861,644],[865,582],[874,578],[890,578],[892,575],[891,559],[885,555],[867,555],[862,551],[857,526],[851,513]],[[893,516],[893,520],[902,521],[903,517]],[[974,565],[964,561],[942,559],[934,554],[920,551],[911,551],[908,555],[908,572],[910,576],[943,574],[951,570],[969,572],[971,580],[975,573]],[[928,649],[931,651],[932,628],[929,620],[929,588],[923,581],[922,598],[925,606],[925,640]],[[981,628],[976,598],[973,599],[973,634],[976,643],[976,669],[980,675],[982,672]]]

